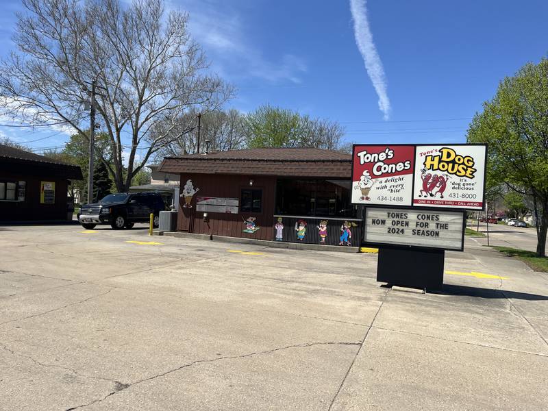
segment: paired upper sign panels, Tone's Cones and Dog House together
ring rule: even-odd
[[[352,203],[484,209],[486,145],[354,145]]]

